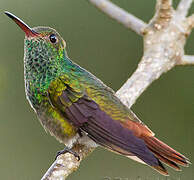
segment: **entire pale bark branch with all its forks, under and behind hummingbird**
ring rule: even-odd
[[[191,16],[186,21],[184,18],[180,20],[180,15],[172,8],[171,0],[157,1],[155,15],[148,25],[108,0],[89,0],[89,2],[125,27],[143,36],[144,54],[141,61],[133,75],[116,93],[128,108],[131,108],[142,92],[163,73],[176,65],[194,64],[194,56],[184,55],[184,45],[193,28],[194,18]],[[182,7],[184,2],[186,5]],[[182,0],[177,11],[185,16],[190,5],[190,0]],[[73,150],[83,160],[94,149],[76,145]],[[66,179],[79,167],[81,160],[77,161],[69,153],[59,156],[42,180]]]

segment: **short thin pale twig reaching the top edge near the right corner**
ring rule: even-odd
[[[193,0],[181,0],[177,7],[177,14],[181,18],[185,18],[188,14],[189,8],[191,7]]]

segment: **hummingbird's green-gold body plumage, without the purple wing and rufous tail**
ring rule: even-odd
[[[71,88],[69,97],[72,102],[86,94],[115,120],[123,121],[132,115],[115,97],[112,89],[68,58],[65,42],[55,30],[44,27],[34,30],[44,36],[55,34],[58,38],[56,44],[52,44],[48,38],[25,38],[26,94],[34,110],[40,114],[45,129],[62,142],[66,142],[66,137],[75,135],[76,128],[53,108],[47,96],[49,91],[56,99],[67,86]],[[66,105],[70,106],[71,103]]]

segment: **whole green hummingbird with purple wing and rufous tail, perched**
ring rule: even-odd
[[[30,28],[5,12],[24,32],[26,98],[42,126],[73,153],[75,144],[102,146],[167,176],[189,159],[155,137],[115,92],[67,55],[66,42],[50,27]],[[79,158],[78,158],[79,159]]]

